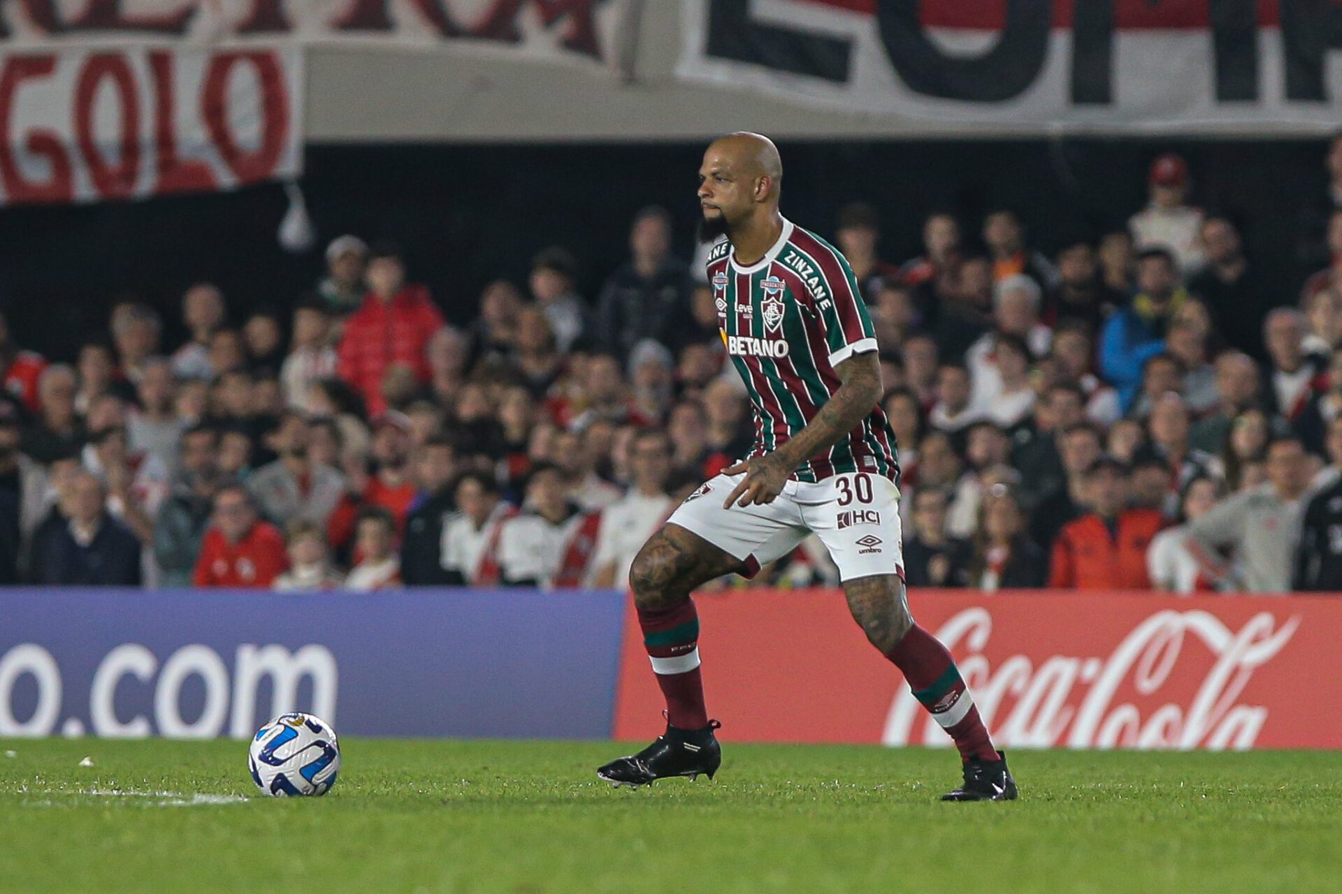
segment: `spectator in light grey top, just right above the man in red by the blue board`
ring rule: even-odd
[[[276,528],[287,528],[294,520],[311,521],[330,536],[331,543],[344,543],[348,517],[353,515],[345,496],[345,476],[311,461],[307,421],[289,411],[275,422],[266,440],[279,458],[247,478],[247,492],[262,516]],[[346,519],[341,521],[337,515]]]

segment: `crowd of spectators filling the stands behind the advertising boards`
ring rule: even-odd
[[[1177,155],[1127,227],[1049,256],[1000,209],[934,213],[888,263],[876,210],[844,208],[911,586],[1342,591],[1342,139],[1327,166],[1298,295],[1186,204]],[[548,248],[464,328],[356,236],[282,310],[191,285],[181,344],[136,300],[74,365],[0,319],[0,583],[623,586],[754,430],[671,237],[639,213],[596,300]],[[752,583],[836,579],[812,539]]]

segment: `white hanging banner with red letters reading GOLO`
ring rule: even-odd
[[[302,87],[297,47],[0,54],[0,205],[297,177]]]

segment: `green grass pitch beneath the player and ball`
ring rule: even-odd
[[[727,743],[615,791],[619,744],[341,745],[286,802],[246,743],[0,741],[0,891],[1342,890],[1339,753],[1020,751],[1021,800],[942,804],[947,751]]]

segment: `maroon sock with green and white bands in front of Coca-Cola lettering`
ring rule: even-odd
[[[941,641],[914,625],[886,657],[903,672],[914,698],[956,741],[962,760],[998,759],[973,696]]]

